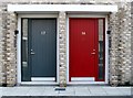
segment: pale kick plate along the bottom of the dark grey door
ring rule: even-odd
[[[31,81],[55,81],[55,77],[31,77]]]

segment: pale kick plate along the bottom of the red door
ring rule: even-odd
[[[71,81],[94,81],[94,77],[71,77]]]

